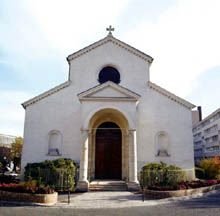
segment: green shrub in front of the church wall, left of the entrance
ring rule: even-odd
[[[56,190],[74,190],[76,163],[71,159],[60,158],[40,163],[27,164],[25,180],[36,180],[38,185],[49,185]]]

